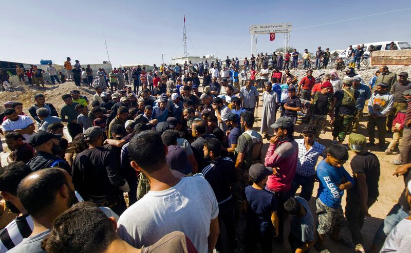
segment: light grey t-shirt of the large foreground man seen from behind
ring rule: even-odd
[[[150,191],[120,216],[117,234],[141,248],[166,234],[181,231],[198,252],[208,252],[210,222],[218,216],[213,189],[202,174],[181,178],[164,191]]]

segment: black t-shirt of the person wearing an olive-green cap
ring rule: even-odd
[[[358,154],[352,158],[350,165],[356,183],[348,190],[347,194],[360,198],[355,174],[362,173],[365,174],[365,181],[367,182],[368,198],[377,198],[380,195],[378,192],[378,180],[380,179],[380,161],[378,157],[370,152]]]

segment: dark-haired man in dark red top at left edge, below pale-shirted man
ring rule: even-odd
[[[24,137],[16,132],[6,134],[6,144],[11,154],[7,157],[7,162],[23,161],[27,163],[34,156],[32,146],[24,142]]]

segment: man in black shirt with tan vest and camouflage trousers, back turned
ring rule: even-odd
[[[356,100],[360,93],[357,90],[351,89],[352,79],[344,78],[343,89],[334,93],[334,119],[331,119],[330,124],[334,123],[332,130],[332,143],[342,144],[345,136],[351,133],[352,121],[356,115]],[[338,140],[337,140],[338,138]]]

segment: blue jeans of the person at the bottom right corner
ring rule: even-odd
[[[393,230],[393,228],[403,219],[407,218],[408,214],[404,212],[400,204],[395,204],[393,208],[389,211],[387,217],[385,217],[384,222],[377,229],[374,239],[372,240],[372,245],[381,248],[384,244],[385,238]]]

